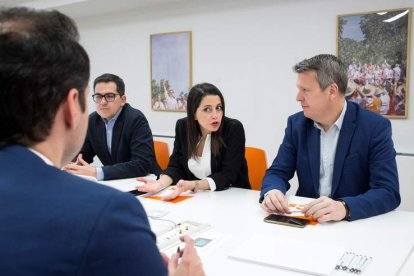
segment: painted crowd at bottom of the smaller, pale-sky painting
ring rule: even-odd
[[[183,91],[177,95],[168,80],[162,79],[159,83],[152,80],[151,106],[155,111],[186,111],[187,96]]]

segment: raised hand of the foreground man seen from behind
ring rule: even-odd
[[[169,259],[164,253],[162,257],[168,266],[169,276],[204,276],[203,264],[194,247],[194,241],[189,236],[180,237],[185,242],[185,248],[180,253],[174,253]]]

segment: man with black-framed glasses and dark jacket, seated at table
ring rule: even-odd
[[[98,180],[158,175],[151,129],[144,114],[126,103],[123,80],[103,74],[93,86],[96,112],[89,115],[88,133],[76,162],[65,170]],[[95,156],[103,167],[89,165]]]

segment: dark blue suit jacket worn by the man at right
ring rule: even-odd
[[[347,102],[339,134],[332,177],[333,199],[343,199],[350,220],[375,216],[400,204],[395,150],[390,121]],[[295,171],[298,196],[319,197],[320,130],[303,112],[289,117],[285,137],[262,183],[265,193],[285,193]]]

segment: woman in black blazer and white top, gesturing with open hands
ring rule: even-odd
[[[188,190],[250,189],[244,151],[243,125],[225,117],[220,90],[209,83],[197,84],[188,95],[187,117],[177,121],[167,169],[158,180],[137,178],[145,183],[137,189],[154,193],[176,184],[165,200]]]

